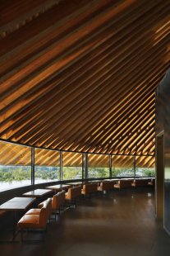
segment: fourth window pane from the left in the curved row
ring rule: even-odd
[[[109,155],[88,154],[88,178],[109,177]]]

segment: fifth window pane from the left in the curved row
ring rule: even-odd
[[[112,156],[112,176],[131,177],[134,176],[134,157],[129,155]]]

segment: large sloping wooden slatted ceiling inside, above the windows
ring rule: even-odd
[[[0,137],[48,149],[154,155],[154,91],[170,56],[169,1],[62,0],[45,9],[49,2],[6,3],[0,31],[9,23],[13,29],[0,40]],[[19,17],[25,22],[18,28]]]

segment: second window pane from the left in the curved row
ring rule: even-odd
[[[49,149],[34,149],[34,183],[60,179],[60,153]]]

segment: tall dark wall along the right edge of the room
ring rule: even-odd
[[[157,136],[157,208],[160,210],[159,208],[163,207],[164,228],[170,233],[170,69],[168,69],[156,91],[155,130]],[[163,159],[161,159],[158,149],[161,134],[164,137]],[[164,166],[161,164],[162,160]]]

